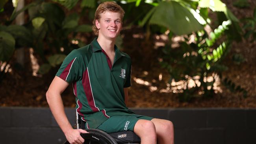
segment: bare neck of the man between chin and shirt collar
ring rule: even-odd
[[[97,41],[105,52],[115,51],[115,39],[105,39],[99,35]]]

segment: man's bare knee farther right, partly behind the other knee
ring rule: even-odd
[[[174,128],[171,121],[154,118],[151,122],[156,127],[158,144],[174,144]]]

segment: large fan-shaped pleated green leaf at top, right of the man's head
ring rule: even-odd
[[[189,34],[192,31],[203,29],[203,26],[192,13],[175,1],[160,2],[150,18],[149,24],[165,26],[177,35]]]

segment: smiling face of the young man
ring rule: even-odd
[[[99,30],[99,37],[115,39],[122,29],[121,14],[105,11],[100,14],[100,19],[95,20],[95,25]]]

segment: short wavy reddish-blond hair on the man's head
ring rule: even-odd
[[[115,2],[103,2],[102,4],[100,4],[97,7],[97,9],[95,11],[95,15],[94,15],[93,32],[95,33],[95,35],[98,35],[98,33],[99,33],[99,30],[98,30],[98,28],[96,27],[96,24],[95,24],[95,20],[99,20],[100,19],[100,14],[104,13],[106,11],[120,13],[121,14],[121,20],[124,17],[124,10],[117,3],[115,3]]]

